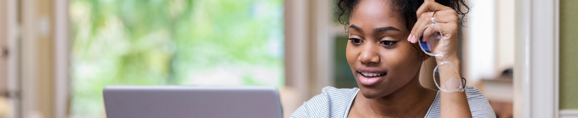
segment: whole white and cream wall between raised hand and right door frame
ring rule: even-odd
[[[514,1],[472,0],[464,28],[464,77],[496,78],[514,64]]]

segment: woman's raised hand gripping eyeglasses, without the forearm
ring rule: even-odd
[[[435,16],[433,16],[435,12]],[[455,10],[451,7],[440,5],[433,0],[425,0],[424,3],[417,9],[417,22],[413,26],[412,32],[407,38],[408,41],[412,43],[417,43],[418,33],[426,25],[432,23],[432,16],[435,18],[436,25],[439,26],[441,30],[443,41],[440,46],[432,49],[433,51],[440,51],[448,61],[453,62],[453,60],[458,60],[457,56],[457,37],[458,37],[458,16]],[[432,32],[433,28],[429,27],[426,29],[424,35],[428,35]],[[443,62],[442,56],[436,56],[435,59],[438,63]]]

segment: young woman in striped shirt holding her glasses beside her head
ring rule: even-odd
[[[476,87],[443,92],[418,80],[428,58],[454,65],[440,67],[440,75],[461,75],[457,37],[458,20],[469,12],[464,0],[338,0],[337,8],[349,31],[347,62],[359,88],[325,87],[291,117],[495,117]],[[437,49],[443,57],[426,55],[417,43],[432,17],[444,40]]]

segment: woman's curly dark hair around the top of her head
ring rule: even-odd
[[[349,17],[351,11],[361,0],[337,0],[335,8],[335,17],[340,24],[345,25],[346,31],[349,27]],[[408,32],[411,32],[414,22],[417,22],[416,11],[420,8],[424,0],[390,0],[393,7],[400,9],[401,16],[405,20],[405,26]],[[469,3],[466,0],[435,0],[435,2],[451,7],[458,14],[458,21],[465,22],[464,17],[470,11]],[[463,25],[462,25],[463,26]]]

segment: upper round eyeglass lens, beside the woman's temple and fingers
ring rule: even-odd
[[[421,29],[420,33],[418,33],[418,39],[420,43],[421,50],[425,52],[425,54],[432,55],[432,56],[439,56],[441,55],[442,44],[440,41],[443,40],[442,33],[440,33],[440,29],[437,25],[427,25],[423,29]]]

